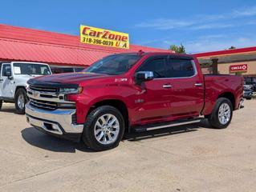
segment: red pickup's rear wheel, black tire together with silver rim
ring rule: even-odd
[[[222,107],[222,108],[221,108]],[[230,112],[228,112],[230,110]],[[225,113],[223,112],[225,111]],[[220,118],[219,118],[220,113]],[[222,117],[222,118],[221,118]],[[211,114],[209,124],[216,129],[224,129],[230,125],[233,117],[233,106],[228,98],[218,98]]]

